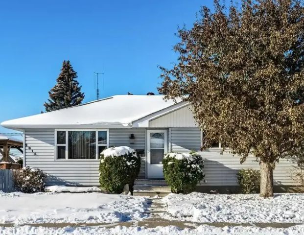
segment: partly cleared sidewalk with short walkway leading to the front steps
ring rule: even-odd
[[[161,214],[166,212],[164,208],[164,203],[162,202],[161,198],[150,198],[150,207],[147,211],[149,218],[140,220],[140,221],[126,221],[126,222],[117,222],[117,223],[43,223],[43,224],[0,224],[0,227],[13,227],[13,226],[33,226],[33,227],[47,227],[47,228],[64,228],[64,227],[93,227],[93,226],[100,226],[105,228],[113,228],[116,226],[125,226],[125,227],[145,227],[145,228],[155,228],[157,226],[176,226],[181,229],[189,228],[195,229],[200,225],[209,225],[214,227],[223,228],[225,226],[257,226],[259,228],[289,228],[295,225],[295,223],[193,223],[190,221],[176,221],[176,220],[167,220],[161,218]]]

